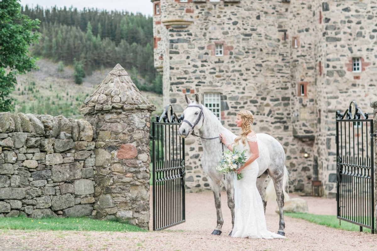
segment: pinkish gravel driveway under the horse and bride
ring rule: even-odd
[[[222,193],[222,198],[226,194]],[[302,197],[309,213],[336,214],[333,199]],[[216,211],[211,192],[186,195],[186,222],[148,233],[0,230],[0,250],[377,250],[377,234],[336,230],[301,219],[285,218],[287,239],[231,238],[230,210],[222,204],[224,235],[212,236]],[[267,205],[269,230],[279,228],[276,204]]]

